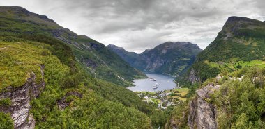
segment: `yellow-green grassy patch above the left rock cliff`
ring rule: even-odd
[[[32,73],[40,82],[40,65],[52,56],[47,45],[37,42],[0,41],[0,91],[8,86],[22,86]]]

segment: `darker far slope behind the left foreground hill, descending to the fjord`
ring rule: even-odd
[[[46,16],[15,6],[0,6],[1,35],[46,35],[55,37],[73,49],[75,57],[86,70],[103,80],[119,85],[130,85],[144,74],[130,67],[103,44],[85,35],[77,35],[56,24]]]

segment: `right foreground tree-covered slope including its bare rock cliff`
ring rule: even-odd
[[[265,67],[243,67],[218,76],[172,112],[167,128],[264,128]]]

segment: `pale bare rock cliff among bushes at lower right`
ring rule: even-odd
[[[207,102],[207,100],[219,87],[219,85],[211,84],[196,91],[197,96],[190,101],[189,105],[188,126],[190,128],[217,128],[215,105]]]

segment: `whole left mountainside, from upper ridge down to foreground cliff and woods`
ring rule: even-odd
[[[103,44],[21,7],[0,6],[0,14],[1,128],[164,126],[156,106],[100,79],[134,71]]]

